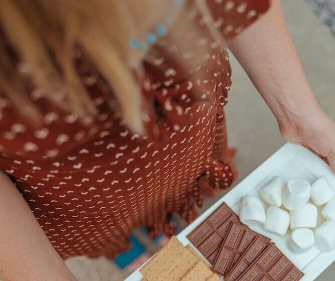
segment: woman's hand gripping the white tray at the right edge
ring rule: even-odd
[[[279,129],[287,142],[306,147],[335,173],[335,122],[321,109],[298,124],[279,125]]]

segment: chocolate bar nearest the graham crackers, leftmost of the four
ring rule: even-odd
[[[231,222],[242,223],[226,203],[219,206],[205,221],[195,228],[187,238],[212,264]]]

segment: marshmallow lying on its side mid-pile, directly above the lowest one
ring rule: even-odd
[[[290,211],[291,230],[305,227],[312,228],[316,226],[317,208],[313,204],[307,203],[302,209]]]

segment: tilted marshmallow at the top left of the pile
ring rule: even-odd
[[[285,182],[281,177],[274,177],[262,187],[260,196],[265,203],[280,207],[282,204],[284,186]]]

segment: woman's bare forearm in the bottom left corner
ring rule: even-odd
[[[11,180],[0,172],[0,279],[74,281]]]

